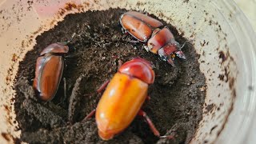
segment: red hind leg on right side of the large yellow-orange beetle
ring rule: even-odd
[[[151,121],[151,119],[146,115],[146,112],[143,110],[139,110],[138,111],[138,115],[142,116],[143,118],[146,119],[146,122],[149,124],[150,126],[150,130],[154,133],[155,136],[157,136],[158,138],[168,138],[168,139],[174,139],[173,135],[160,135],[159,131],[157,130],[157,128],[155,128],[154,123]]]

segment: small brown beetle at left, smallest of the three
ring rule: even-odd
[[[53,43],[42,50],[35,67],[34,90],[43,101],[54,98],[62,78],[64,60],[62,55],[69,47],[62,43]]]

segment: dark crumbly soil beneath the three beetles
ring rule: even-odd
[[[193,137],[202,119],[205,99],[205,77],[199,70],[193,45],[182,50],[186,61],[176,59],[172,67],[146,52],[143,43],[131,43],[129,35],[122,34],[118,18],[126,10],[89,11],[69,14],[58,26],[36,38],[37,44],[20,62],[15,90],[15,111],[21,141],[29,143],[187,143]],[[154,16],[153,16],[154,17]],[[166,22],[164,22],[166,24]],[[186,41],[170,24],[166,24],[181,44]],[[70,42],[70,53],[65,58],[63,78],[66,78],[66,98],[63,81],[50,102],[41,102],[34,94],[32,79],[38,54],[50,43]],[[155,82],[150,86],[150,101],[143,110],[149,115],[162,135],[174,134],[174,140],[155,137],[142,118],[134,122],[110,141],[98,138],[94,118],[83,121],[98,103],[99,86],[118,70],[118,61],[134,57],[154,63]]]

